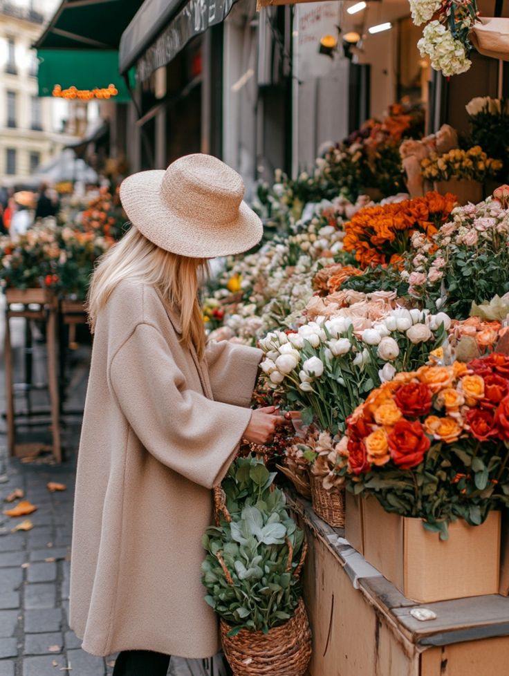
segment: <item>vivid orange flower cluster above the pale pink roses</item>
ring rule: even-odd
[[[428,192],[424,197],[360,209],[345,225],[343,247],[355,251],[362,267],[400,263],[414,232],[431,239],[445,223],[456,196]]]

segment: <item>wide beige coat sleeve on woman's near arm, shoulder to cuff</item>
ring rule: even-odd
[[[187,389],[167,342],[147,323],[138,324],[113,356],[109,383],[149,453],[194,483],[219,485],[250,422],[250,409]]]

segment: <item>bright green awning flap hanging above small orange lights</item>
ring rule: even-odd
[[[99,90],[95,97],[111,96],[112,101],[119,103],[131,100],[127,84],[118,72],[117,50],[39,49],[37,57],[39,96],[53,96],[55,86],[59,86],[62,91],[71,87],[79,91]],[[133,73],[130,76],[133,77]],[[114,86],[113,90],[108,90],[110,85]]]

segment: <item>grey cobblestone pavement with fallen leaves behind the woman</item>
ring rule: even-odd
[[[2,328],[0,323],[0,344],[3,344]],[[21,326],[18,329],[15,336],[21,343]],[[89,354],[89,348],[84,348],[72,357],[68,404],[77,409],[84,400]],[[0,370],[0,411],[5,410],[3,389]],[[22,408],[24,395],[17,398]],[[84,652],[80,639],[68,626],[75,454],[80,416],[71,417],[66,425],[66,460],[60,465],[51,464],[49,456],[41,456],[33,462],[7,458],[4,427],[0,422],[0,676],[110,675],[115,655],[103,658]],[[44,428],[40,434],[43,433]],[[62,483],[66,490],[51,493],[46,487],[48,482]],[[4,509],[17,504],[17,501],[4,502],[17,488],[37,506],[37,511],[30,516],[3,515]],[[33,528],[28,532],[12,532],[26,518],[31,520]],[[201,660],[173,658],[169,669],[169,676],[220,676],[222,673],[220,659],[207,666]]]

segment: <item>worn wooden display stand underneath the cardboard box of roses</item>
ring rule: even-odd
[[[406,599],[311,503],[288,496],[306,530],[304,599],[313,630],[311,676],[503,676],[509,598],[492,594],[418,605]],[[411,610],[429,608],[419,621]]]

